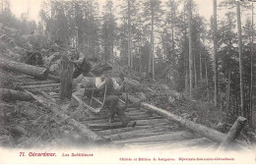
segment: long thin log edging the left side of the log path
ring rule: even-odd
[[[87,127],[86,125],[82,125],[81,123],[77,122],[74,119],[69,119],[68,115],[62,114],[62,113],[64,113],[64,111],[62,111],[61,107],[59,105],[57,105],[56,103],[54,103],[46,98],[43,98],[41,96],[36,96],[36,95],[32,94],[32,92],[30,92],[30,91],[27,91],[27,92],[30,93],[32,95],[32,97],[36,101],[38,101],[41,105],[45,106],[46,108],[50,109],[54,114],[61,117],[62,120],[68,121],[69,124],[73,125],[87,139],[90,139],[90,140],[96,141],[96,142],[106,141],[106,139],[98,136],[95,132],[90,130],[90,128]]]

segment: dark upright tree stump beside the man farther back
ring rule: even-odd
[[[61,58],[61,76],[60,76],[60,100],[72,97],[72,77],[73,77],[73,63],[68,60],[66,55]]]

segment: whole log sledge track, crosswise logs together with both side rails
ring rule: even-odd
[[[218,151],[230,148],[230,145],[235,148],[248,146],[245,142],[237,139],[246,121],[243,117],[239,117],[229,133],[225,135],[129,95],[129,102],[138,104],[133,106],[134,108],[126,109],[125,113],[129,116],[130,123],[124,127],[118,120],[108,123],[106,114],[95,113],[95,108],[82,100],[79,93],[72,94],[73,100],[79,103],[79,109],[71,115],[67,115],[67,111],[56,103],[59,98],[58,92],[47,92],[45,84],[51,84],[53,87],[57,85],[52,82],[22,83],[22,87],[27,89],[23,91],[23,94],[28,99],[32,98],[47,107],[60,118],[60,122],[65,121],[73,126],[82,137],[96,143],[146,150],[203,147],[216,148]],[[7,90],[2,89],[1,91]],[[98,105],[102,105],[98,99],[95,98],[94,101]],[[87,115],[85,118],[79,120],[73,118],[72,115],[81,111]],[[136,122],[135,127],[133,127],[134,122]]]

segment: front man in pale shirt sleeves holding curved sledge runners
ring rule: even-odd
[[[96,78],[96,88],[104,91],[105,99],[102,108],[108,107],[108,122],[114,121],[115,114],[118,119],[122,122],[122,124],[126,127],[129,119],[122,111],[120,104],[118,103],[118,95],[121,95],[121,90],[124,87],[124,82],[122,80],[122,84],[119,85],[115,79],[111,78],[111,70],[112,67],[104,66],[105,68],[102,71],[102,75]]]

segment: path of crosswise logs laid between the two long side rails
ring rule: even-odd
[[[29,86],[29,91],[33,89],[43,92],[40,97],[46,97],[47,100],[53,103],[59,99],[59,86],[41,86],[38,88],[38,84],[39,83],[36,83],[33,86],[31,83],[23,83],[23,86]],[[81,99],[81,96],[79,96],[79,98]],[[57,105],[62,109],[66,107],[67,110],[68,102]],[[72,111],[73,113],[70,115],[64,114],[62,118],[69,119],[77,112],[90,112],[86,107],[81,106],[81,104],[77,108],[78,109]],[[63,113],[65,112],[67,111],[63,111]],[[70,122],[80,129],[88,128],[88,131],[91,130],[93,133],[96,133],[96,136],[99,136],[100,139],[104,139],[105,144],[111,147],[141,148],[145,150],[172,148],[196,149],[199,147],[206,149],[217,148],[217,142],[193,134],[185,128],[146,109],[140,107],[128,108],[126,114],[130,119],[127,127],[123,127],[116,117],[113,123],[108,123],[106,113],[91,113],[87,117],[78,120],[72,118]],[[134,122],[136,122],[136,125],[133,127]],[[85,132],[83,130],[81,131],[82,133]],[[86,133],[88,131],[86,131]]]

